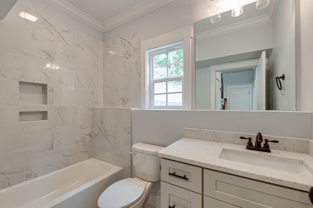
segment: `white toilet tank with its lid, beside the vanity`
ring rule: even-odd
[[[135,175],[146,181],[160,180],[161,159],[157,152],[164,147],[137,143],[132,146]]]

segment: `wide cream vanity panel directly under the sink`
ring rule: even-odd
[[[313,208],[308,193],[214,170],[203,171],[203,193],[241,208]]]

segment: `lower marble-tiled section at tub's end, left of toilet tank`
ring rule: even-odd
[[[131,109],[93,109],[93,157],[123,167],[131,177]]]

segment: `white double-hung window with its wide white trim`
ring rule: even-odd
[[[193,95],[195,96],[195,94],[192,94],[193,90],[195,89],[195,86],[193,86],[192,78],[196,75],[194,70],[194,64],[192,63],[192,59],[194,58],[194,43],[192,37],[193,27],[188,26],[141,42],[140,106],[142,109],[192,109],[193,105],[196,106],[196,99],[193,99]],[[176,63],[179,63],[179,61],[173,60],[173,62],[171,62],[167,59],[171,57],[171,51],[176,51],[179,49],[182,49],[179,52],[183,54],[183,58],[181,57],[182,60],[180,62],[183,63],[183,65],[181,65],[183,72],[181,71],[182,73],[180,75],[174,75],[171,74],[171,69],[169,68],[177,65]],[[158,54],[165,54],[164,56],[166,56],[166,64],[156,67],[154,66],[152,56]],[[164,66],[164,68],[166,68],[166,71],[164,70],[164,74],[166,72],[167,77],[154,77],[154,68],[160,69],[161,66]],[[176,91],[171,91],[172,89],[170,88],[170,86],[172,83],[168,82],[174,80],[180,80],[179,83],[181,82],[181,90],[179,89],[178,91],[178,85],[175,85],[174,89]],[[154,83],[162,82],[163,92],[154,93]],[[163,95],[163,101],[156,105],[155,97],[161,97],[161,95]],[[176,102],[176,100],[173,102],[174,96],[179,97],[179,104],[174,104]]]

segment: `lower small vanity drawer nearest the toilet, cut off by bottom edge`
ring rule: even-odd
[[[202,195],[161,181],[161,208],[202,208]]]

